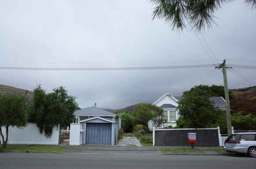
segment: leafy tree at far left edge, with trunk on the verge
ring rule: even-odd
[[[26,97],[15,92],[0,92],[0,134],[3,140],[3,148],[8,142],[9,127],[26,127],[27,113]],[[2,132],[2,127],[6,129],[6,138]]]

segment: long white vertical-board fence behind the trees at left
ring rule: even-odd
[[[24,129],[11,127],[9,130],[9,144],[59,144],[60,126],[53,127],[51,137],[46,137],[44,132],[41,134],[36,123],[28,123]]]

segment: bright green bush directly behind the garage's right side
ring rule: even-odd
[[[113,113],[122,117],[121,128],[124,129],[124,132],[132,132],[132,126],[134,125],[134,112],[125,110]]]

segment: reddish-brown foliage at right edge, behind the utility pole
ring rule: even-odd
[[[256,115],[256,99],[238,98],[230,100],[230,109],[235,113],[243,112],[243,115]]]

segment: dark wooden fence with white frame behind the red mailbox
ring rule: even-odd
[[[191,146],[188,133],[196,133],[194,146],[219,146],[218,129],[170,129],[154,130],[155,146]]]

